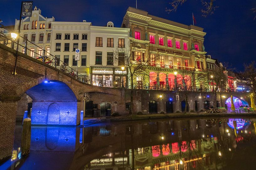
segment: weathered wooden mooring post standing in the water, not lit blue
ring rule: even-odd
[[[31,119],[25,118],[22,126],[21,136],[21,152],[23,156],[28,156],[30,152],[30,141],[31,141]]]

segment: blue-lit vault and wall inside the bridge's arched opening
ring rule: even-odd
[[[32,99],[32,124],[76,125],[77,98],[62,81],[44,81],[25,93]]]

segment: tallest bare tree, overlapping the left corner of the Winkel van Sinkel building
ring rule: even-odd
[[[138,53],[141,46],[134,40],[130,41],[126,48],[117,45],[117,48],[113,51],[112,60],[115,63],[118,62],[118,65],[125,66],[128,69],[128,81],[131,83],[130,115],[133,114],[133,80],[136,80],[138,76],[142,76],[143,78],[146,76],[149,77],[149,73],[146,72],[147,69],[149,69],[150,66],[154,66],[156,61],[159,60],[159,53],[153,52],[154,47],[151,45],[148,47],[149,48],[145,53]],[[128,81],[126,80],[126,84],[128,84]]]

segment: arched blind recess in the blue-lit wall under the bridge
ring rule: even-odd
[[[47,124],[60,124],[60,107],[57,103],[48,107]]]

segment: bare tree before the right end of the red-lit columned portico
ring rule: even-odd
[[[207,73],[196,71],[195,68],[180,67],[176,76],[175,84],[178,89],[182,90],[185,95],[185,111],[188,108],[188,95],[191,91],[196,91],[196,86],[205,84],[207,81]]]

